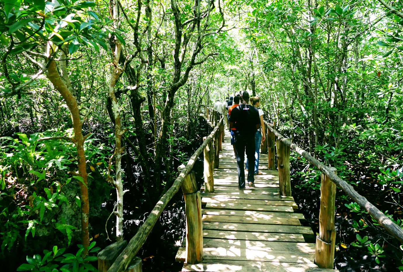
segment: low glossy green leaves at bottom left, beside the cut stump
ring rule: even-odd
[[[57,246],[54,246],[52,251],[45,249],[43,257],[39,254],[33,255],[33,257],[27,256],[27,264],[21,264],[21,266],[17,268],[17,271],[97,271],[90,262],[95,262],[98,258],[96,256],[89,256],[89,254],[99,251],[100,248],[95,247],[95,242],[89,245],[87,251],[84,250],[83,245],[78,245],[78,247],[79,250],[76,254],[63,254],[66,248],[58,249]]]

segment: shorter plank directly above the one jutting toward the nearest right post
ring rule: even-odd
[[[266,225],[295,225],[301,226],[298,219],[271,217],[270,219],[255,218],[252,216],[231,216],[231,215],[214,215],[205,214],[202,217],[204,222],[231,222],[231,223],[247,223],[247,224],[266,224]]]

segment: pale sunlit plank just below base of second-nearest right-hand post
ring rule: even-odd
[[[222,204],[226,204],[227,207],[232,206],[233,204],[244,204],[245,207],[250,207],[251,210],[258,210],[260,211],[260,207],[259,205],[270,205],[270,206],[290,206],[293,208],[297,208],[297,204],[294,201],[286,201],[286,200],[253,200],[253,199],[235,199],[235,198],[219,198],[219,197],[203,197],[202,198],[202,204],[207,204],[207,203],[214,203],[216,204],[215,207],[222,207],[224,208],[224,206]],[[251,207],[251,206],[246,206],[246,205],[257,205],[256,208]],[[213,206],[212,206],[213,207]],[[234,208],[234,210],[239,210]],[[280,212],[280,210],[278,210]],[[288,212],[289,210],[287,210]],[[283,212],[286,212],[285,210],[283,210]],[[290,212],[293,212],[290,210]]]

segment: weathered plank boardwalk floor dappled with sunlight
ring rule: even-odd
[[[226,131],[220,166],[214,169],[215,191],[202,193],[204,260],[185,263],[182,271],[337,271],[314,264],[314,233],[301,225],[304,218],[295,212],[293,197],[280,196],[278,172],[268,170],[267,155],[260,155],[263,174],[255,176],[256,188],[244,191],[238,189],[233,155]],[[185,247],[177,261],[185,261]]]

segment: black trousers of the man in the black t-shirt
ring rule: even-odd
[[[255,164],[255,146],[252,135],[241,135],[235,133],[235,149],[237,150],[237,168],[238,168],[238,187],[245,188],[245,169],[243,168],[246,157],[249,158],[249,167]],[[248,172],[247,181],[254,183],[255,177],[252,172]]]

